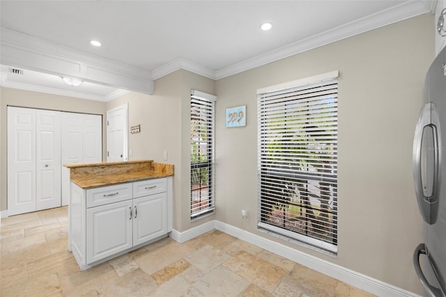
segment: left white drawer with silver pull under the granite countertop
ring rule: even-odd
[[[120,183],[86,190],[86,207],[132,199],[132,183]]]

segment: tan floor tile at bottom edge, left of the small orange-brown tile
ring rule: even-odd
[[[106,280],[104,284],[98,287],[100,296],[152,296],[157,289],[155,281],[141,269],[116,280]]]

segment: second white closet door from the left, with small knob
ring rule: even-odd
[[[61,112],[36,110],[36,202],[61,206]]]

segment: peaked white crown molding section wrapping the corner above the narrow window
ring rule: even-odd
[[[215,71],[207,67],[201,66],[198,63],[194,63],[182,57],[178,57],[167,64],[152,71],[153,79],[159,79],[169,73],[173,73],[176,70],[183,69],[201,75],[203,77],[208,77],[215,80]]]

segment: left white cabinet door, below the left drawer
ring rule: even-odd
[[[132,200],[87,208],[86,264],[132,248]]]

